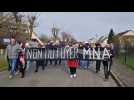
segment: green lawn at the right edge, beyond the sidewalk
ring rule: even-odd
[[[121,54],[119,57],[117,57],[117,61],[121,64],[125,64],[125,56]],[[134,70],[134,55],[126,57],[126,64],[128,67]]]

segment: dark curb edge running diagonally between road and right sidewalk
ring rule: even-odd
[[[110,75],[119,87],[127,87],[127,85],[123,83],[113,71],[111,71]]]

